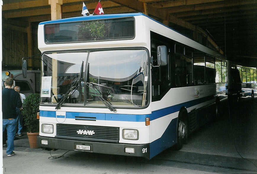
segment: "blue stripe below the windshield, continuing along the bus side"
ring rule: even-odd
[[[200,99],[195,99],[189,102],[184,102],[171,107],[166,107],[160,110],[153,111],[151,114],[110,114],[110,113],[83,113],[83,112],[66,112],[66,118],[75,117],[96,117],[96,120],[107,120],[107,121],[134,121],[134,122],[144,122],[146,117],[150,117],[150,120],[155,120],[157,118],[166,116],[171,113],[175,113],[180,110],[181,107],[192,107],[194,105],[209,101],[214,99],[214,95],[203,97]],[[41,117],[56,117],[56,111],[40,111]],[[64,118],[64,116],[57,116],[57,118]]]

